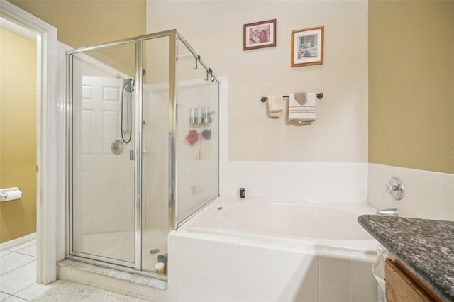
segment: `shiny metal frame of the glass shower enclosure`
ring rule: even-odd
[[[141,35],[134,38],[128,38],[125,40],[119,40],[113,43],[106,43],[102,45],[94,45],[88,47],[81,47],[73,50],[67,50],[66,52],[66,65],[67,65],[67,100],[68,100],[68,118],[67,118],[67,148],[68,152],[66,155],[67,160],[67,251],[66,257],[70,259],[77,259],[81,262],[87,262],[92,264],[97,264],[103,267],[114,268],[122,270],[124,272],[132,272],[134,274],[142,274],[145,276],[153,276],[157,279],[167,280],[167,276],[162,274],[156,274],[154,272],[143,272],[142,271],[142,180],[143,180],[143,158],[142,158],[142,139],[143,139],[143,130],[142,130],[142,119],[143,119],[143,43],[146,40],[152,40],[156,38],[169,38],[169,152],[168,152],[168,161],[169,161],[169,175],[168,175],[168,230],[175,230],[178,227],[177,222],[177,213],[176,213],[176,201],[177,201],[177,142],[176,142],[176,131],[177,131],[177,39],[181,41],[188,50],[192,53],[194,58],[198,57],[198,62],[202,65],[208,72],[209,67],[200,60],[200,56],[192,49],[192,47],[187,43],[181,35],[177,33],[177,30],[165,30],[158,33],[151,33],[148,35]],[[77,252],[74,254],[73,250],[73,226],[72,226],[72,104],[73,98],[70,91],[72,91],[72,77],[70,74],[72,72],[72,62],[70,57],[72,55],[83,53],[93,50],[104,50],[110,47],[116,47],[121,45],[135,45],[135,179],[134,179],[134,206],[135,206],[135,262],[134,265],[128,265],[121,261],[112,261],[110,258],[105,257],[86,257],[87,255],[77,255]],[[218,84],[219,80],[214,74],[211,73],[212,79],[214,79]],[[81,257],[82,256],[82,257]],[[125,265],[126,264],[126,265]]]

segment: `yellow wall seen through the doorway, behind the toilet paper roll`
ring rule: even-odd
[[[36,230],[36,43],[0,28],[0,243]]]

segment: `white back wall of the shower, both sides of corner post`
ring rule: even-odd
[[[144,85],[143,126],[143,202],[145,226],[167,230],[169,200],[169,106],[166,85]],[[185,137],[189,125],[189,108],[210,106],[215,95],[206,82],[180,83],[177,106],[177,215],[179,220],[216,196],[218,170],[218,112],[213,115],[210,140],[199,139],[189,145]],[[212,108],[211,110],[215,110]],[[201,133],[203,127],[195,128]],[[198,153],[200,150],[200,159]]]

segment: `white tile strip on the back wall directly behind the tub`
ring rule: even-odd
[[[366,163],[226,161],[221,167],[221,196],[244,187],[250,197],[362,203],[367,197]]]

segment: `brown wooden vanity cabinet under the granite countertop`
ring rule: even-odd
[[[385,263],[385,287],[389,302],[442,301],[390,253]]]

